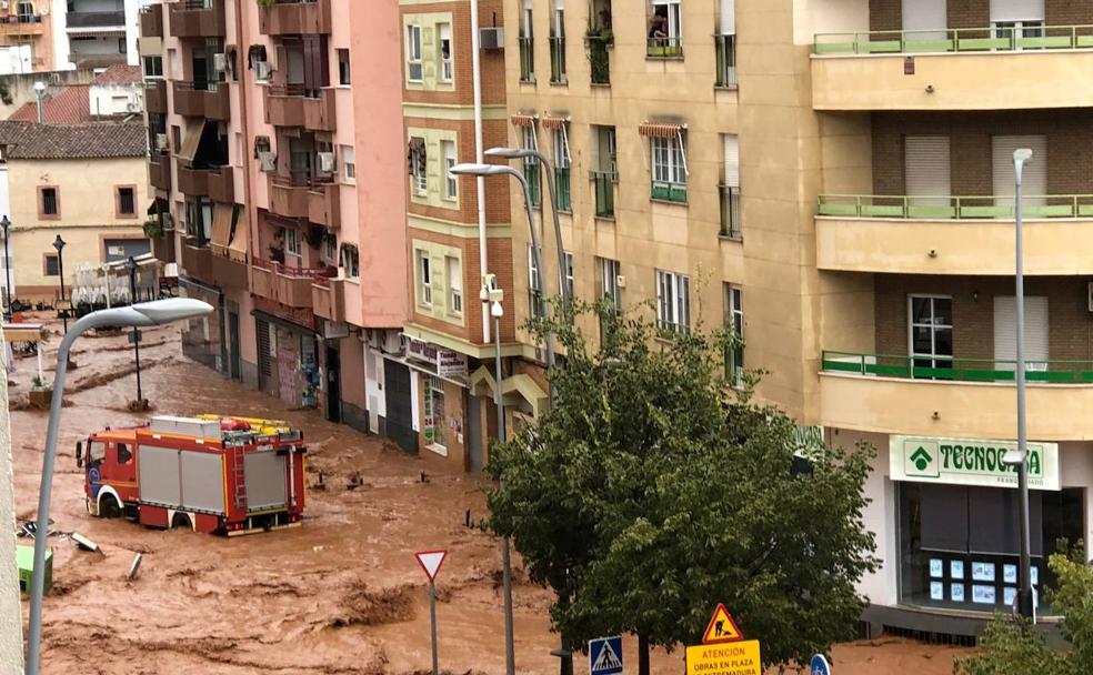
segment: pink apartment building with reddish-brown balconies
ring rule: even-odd
[[[383,382],[365,383],[365,344],[399,344],[407,306],[397,26],[393,1],[179,1],[141,18],[157,258],[219,309],[184,351],[373,431],[365,392]]]

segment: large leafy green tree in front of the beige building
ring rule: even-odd
[[[664,333],[606,306],[560,306],[555,404],[491,452],[490,527],[549,585],[569,648],[614,633],[696,644],[725,603],[765,665],[853,636],[875,568],[863,496],[872,451],[802,446],[779,410],[730,386],[735,336]],[[599,315],[595,347],[572,328]]]

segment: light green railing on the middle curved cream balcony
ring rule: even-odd
[[[1023,203],[1025,218],[1093,218],[1093,194],[1026,195]],[[1014,218],[1012,197],[821,194],[816,212],[820,215],[841,218],[923,220]]]

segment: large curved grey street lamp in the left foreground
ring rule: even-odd
[[[80,319],[66,331],[57,350],[57,370],[53,377],[53,397],[49,407],[49,426],[46,431],[46,454],[42,459],[42,482],[38,492],[38,534],[34,536],[34,567],[30,580],[30,627],[27,631],[26,675],[38,675],[41,662],[42,593],[44,590],[46,540],[49,538],[49,504],[53,488],[53,463],[57,459],[57,433],[64,399],[64,379],[68,374],[69,352],[76,339],[91,329],[103,326],[152,326],[202,316],[212,306],[190,298],[157,300],[128,308],[100,310]]]

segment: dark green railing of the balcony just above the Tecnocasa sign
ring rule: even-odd
[[[1016,362],[997,359],[900,356],[824,351],[825,373],[952,382],[1014,382]],[[1046,384],[1093,384],[1093,361],[1026,361],[1025,380]]]

